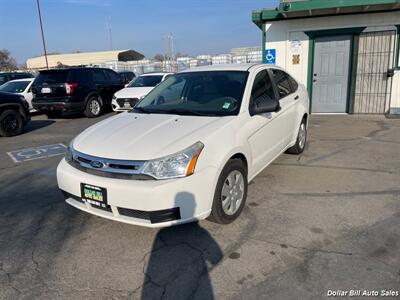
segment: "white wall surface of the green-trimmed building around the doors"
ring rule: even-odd
[[[396,30],[394,25],[397,24],[400,24],[400,11],[276,21],[265,24],[265,49],[276,49],[276,64],[287,69],[307,86],[309,42],[305,31],[351,27],[367,27],[365,31],[384,31]],[[300,41],[300,48],[292,47],[292,42],[296,40]],[[298,65],[292,63],[293,54],[300,55]],[[391,107],[396,106],[400,110],[399,93],[400,75],[396,74],[392,85]]]

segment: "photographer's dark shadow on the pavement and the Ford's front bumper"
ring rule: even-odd
[[[179,193],[175,206],[193,215],[193,194]],[[185,214],[186,215],[186,214]],[[223,253],[199,223],[161,229],[147,255],[141,299],[214,299],[209,271]]]

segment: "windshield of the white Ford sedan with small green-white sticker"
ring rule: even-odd
[[[246,71],[178,73],[154,88],[133,112],[200,116],[239,113]]]

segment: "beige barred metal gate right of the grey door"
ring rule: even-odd
[[[395,31],[361,33],[359,38],[354,113],[383,114],[389,109],[394,65]]]

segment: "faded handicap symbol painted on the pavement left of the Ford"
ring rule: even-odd
[[[36,148],[27,148],[16,151],[7,152],[11,159],[18,163],[33,159],[40,159],[46,157],[52,157],[56,155],[62,155],[65,153],[66,146],[64,144],[53,144],[40,146]]]

